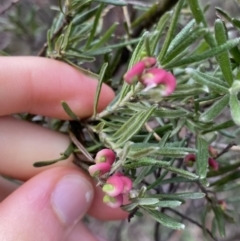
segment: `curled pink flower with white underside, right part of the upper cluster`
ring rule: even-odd
[[[162,90],[163,96],[172,94],[176,88],[176,79],[170,73],[164,69],[152,68],[141,76],[142,84],[146,86],[144,91],[150,90],[158,85],[165,85],[165,89]]]

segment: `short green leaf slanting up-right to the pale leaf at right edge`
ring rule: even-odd
[[[204,122],[213,120],[222,113],[228,103],[229,95],[226,94],[219,100],[215,101],[214,104],[210,108],[208,108],[206,112],[202,113],[199,120]]]

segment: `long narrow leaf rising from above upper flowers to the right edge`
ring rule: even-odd
[[[225,44],[214,47],[211,50],[207,50],[200,54],[187,56],[181,60],[173,60],[173,61],[163,65],[162,67],[166,68],[166,69],[171,69],[171,68],[176,68],[176,67],[200,62],[200,61],[206,60],[211,57],[216,57],[219,54],[223,53],[224,51],[230,50],[233,47],[237,46],[239,44],[239,42],[240,42],[239,38],[228,40]]]

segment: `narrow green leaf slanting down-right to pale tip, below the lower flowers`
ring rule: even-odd
[[[175,221],[173,218],[167,216],[164,213],[151,209],[146,209],[146,211],[151,215],[152,218],[154,218],[156,221],[158,221],[165,227],[177,230],[182,230],[185,228],[184,224]]]

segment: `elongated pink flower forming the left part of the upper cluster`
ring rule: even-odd
[[[141,61],[137,62],[131,69],[129,69],[126,74],[123,76],[123,79],[128,84],[133,84],[137,81],[140,76],[143,74],[146,68],[152,67],[155,65],[157,60],[154,57],[145,57]]]

